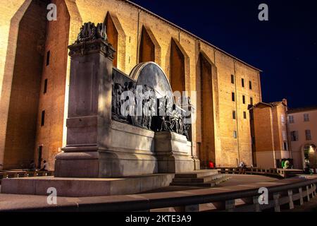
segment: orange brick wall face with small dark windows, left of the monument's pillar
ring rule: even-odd
[[[46,55],[43,67],[39,107],[37,109],[37,133],[35,141],[35,160],[38,160],[38,148],[42,145],[42,159],[54,169],[55,156],[63,146],[64,102],[66,95],[66,73],[68,61],[68,37],[70,15],[64,1],[54,1],[57,6],[56,21],[47,23],[45,53],[50,52],[49,65]],[[44,81],[47,79],[47,92],[44,93]],[[41,126],[41,114],[45,111],[44,126]]]

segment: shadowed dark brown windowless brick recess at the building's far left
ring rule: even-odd
[[[5,168],[28,167],[34,158],[46,31],[45,8],[45,1],[32,1],[20,20],[8,107]]]

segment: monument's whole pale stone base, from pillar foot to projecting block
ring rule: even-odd
[[[153,132],[112,121],[108,145],[63,148],[56,156],[55,176],[118,178],[143,174],[192,172],[199,160],[192,143],[173,132]]]

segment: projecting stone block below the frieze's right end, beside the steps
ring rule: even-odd
[[[192,172],[192,143],[173,132],[155,133],[155,149],[160,173]]]

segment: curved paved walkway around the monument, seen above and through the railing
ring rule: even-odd
[[[137,195],[126,195],[126,196],[113,196],[113,198],[116,199],[116,203],[120,202],[120,200],[123,200],[123,203],[128,201],[134,201],[135,199],[142,199],[145,197],[145,200],[148,200],[147,198],[153,198],[158,197],[162,198],[162,196],[165,196],[163,193],[170,192],[170,194],[166,194],[166,197],[168,196],[188,196],[188,194],[197,194],[197,195],[206,195],[209,194],[218,194],[218,193],[225,193],[225,192],[240,192],[244,191],[246,189],[252,189],[254,187],[261,186],[275,186],[275,185],[282,185],[287,184],[292,181],[294,182],[300,182],[301,179],[295,178],[295,179],[275,179],[271,177],[265,177],[265,176],[259,176],[259,175],[244,175],[244,174],[233,174],[230,175],[232,177],[228,182],[224,182],[220,186],[216,186],[209,189],[201,189],[201,187],[197,188],[198,190],[193,191],[193,187],[177,187],[177,186],[169,186],[162,189],[156,189],[155,191],[148,191],[147,193],[137,194]],[[186,190],[192,190],[192,191],[186,191]],[[176,191],[173,193],[173,191]],[[154,193],[154,194],[148,194],[148,193]],[[156,194],[156,193],[162,193],[162,194]],[[141,200],[142,201],[142,200]],[[104,197],[90,197],[90,198],[65,198],[65,197],[59,197],[58,196],[58,206],[63,207],[65,210],[68,208],[70,210],[73,210],[77,208],[78,203],[109,203],[113,202],[111,196],[104,196]],[[236,206],[241,206],[245,204],[245,200],[236,198]],[[213,206],[212,206],[213,205]],[[168,206],[168,205],[166,205]],[[291,212],[304,212],[304,211],[312,211],[316,210],[317,206],[317,198],[311,198],[310,203],[305,203],[305,206],[299,207],[295,206],[294,210],[286,210],[281,207],[282,211],[291,211]],[[0,194],[0,211],[2,210],[16,210],[17,208],[20,210],[23,210],[23,208],[36,208],[44,210],[45,208],[50,208],[50,206],[47,204],[47,196],[32,196],[32,195],[11,195],[11,194]],[[21,209],[22,208],[22,209]],[[217,210],[218,207],[215,206],[215,203],[201,203],[199,204],[199,210],[200,211],[209,211],[209,210]],[[163,211],[175,211],[173,208],[161,208],[161,209],[151,209],[151,211],[157,211],[157,210],[163,210]],[[253,209],[252,209],[253,210]]]

